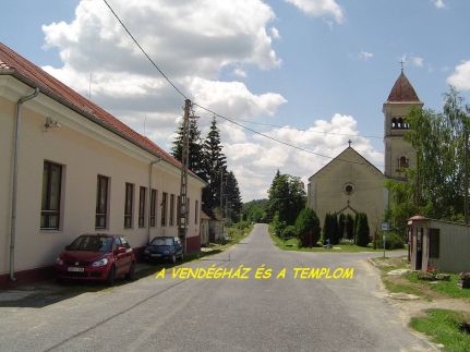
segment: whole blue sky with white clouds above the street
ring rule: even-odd
[[[383,170],[382,106],[405,73],[442,110],[470,98],[467,0],[108,0],[192,101],[217,119],[244,202],[352,147]],[[170,150],[183,97],[100,0],[2,0],[0,41]],[[91,87],[91,88],[89,88]],[[195,109],[206,134],[213,116]]]

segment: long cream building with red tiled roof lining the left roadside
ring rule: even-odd
[[[46,271],[82,233],[137,248],[178,235],[180,162],[2,44],[0,122],[0,284]],[[190,173],[188,252],[201,246],[204,186]]]

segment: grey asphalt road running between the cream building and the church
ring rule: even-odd
[[[267,226],[182,267],[258,267],[285,279],[147,277],[40,308],[0,307],[1,351],[430,351],[379,294],[371,254],[284,252]],[[230,257],[230,262],[228,260]],[[294,267],[353,267],[353,279],[294,279]]]

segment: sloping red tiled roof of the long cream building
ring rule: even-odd
[[[82,116],[137,145],[142,149],[161,157],[161,159],[176,168],[181,168],[180,161],[174,159],[154,142],[138,134],[93,101],[86,99],[39,66],[0,43],[0,72],[5,70],[13,71],[12,74],[19,80],[26,81],[29,85],[39,87],[41,93],[69,106]],[[191,174],[196,177],[192,172]]]

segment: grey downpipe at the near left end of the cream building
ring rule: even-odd
[[[17,191],[17,156],[20,151],[20,130],[21,130],[21,108],[27,100],[38,96],[39,88],[36,87],[34,93],[20,98],[16,102],[16,123],[14,129],[13,146],[13,174],[12,174],[12,198],[11,198],[11,223],[10,223],[10,280],[16,281],[14,276],[14,245],[16,238],[16,191]]]

